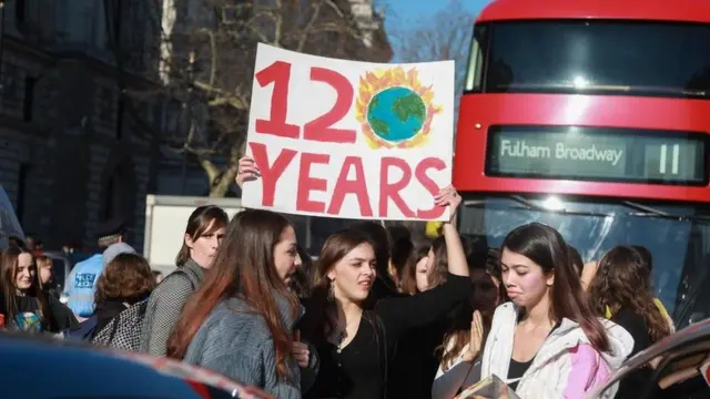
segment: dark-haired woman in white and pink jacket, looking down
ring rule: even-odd
[[[584,398],[630,354],[631,336],[596,317],[556,229],[531,223],[510,232],[500,269],[511,301],[494,314],[481,378],[495,375],[526,399]]]

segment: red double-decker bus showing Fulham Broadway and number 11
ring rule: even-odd
[[[459,108],[460,231],[541,222],[585,260],[643,245],[677,325],[706,318],[709,132],[710,1],[496,0]]]

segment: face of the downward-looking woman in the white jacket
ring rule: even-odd
[[[555,276],[546,274],[540,265],[508,248],[503,248],[500,267],[508,297],[525,308],[539,304],[555,282]]]

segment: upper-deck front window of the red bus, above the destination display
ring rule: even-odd
[[[480,28],[487,32],[474,38],[478,51],[467,89],[480,86],[475,72],[485,70],[483,91],[491,93],[710,98],[708,24],[501,21],[477,25],[476,34]]]

